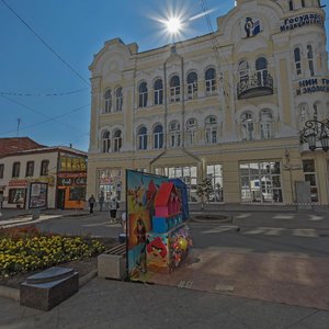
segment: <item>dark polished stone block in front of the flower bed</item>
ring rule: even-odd
[[[79,290],[79,273],[72,269],[50,268],[34,274],[21,284],[20,303],[23,306],[49,310]]]

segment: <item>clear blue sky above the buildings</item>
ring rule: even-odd
[[[54,55],[0,0],[0,137],[29,136],[48,145],[88,150],[93,54],[105,41],[136,42],[139,52],[166,45],[169,8],[185,18],[202,13],[200,0],[4,0],[69,66]],[[204,1],[214,30],[234,1]],[[329,0],[322,0],[328,15]],[[329,21],[326,20],[327,36]],[[209,33],[205,18],[189,22],[182,39]],[[327,45],[328,49],[328,45]],[[87,82],[86,82],[87,81]],[[21,95],[18,95],[20,93]],[[54,95],[56,94],[56,95]]]

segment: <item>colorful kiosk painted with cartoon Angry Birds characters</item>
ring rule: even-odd
[[[128,276],[145,281],[155,272],[170,273],[192,245],[182,213],[184,183],[132,170],[126,174]]]

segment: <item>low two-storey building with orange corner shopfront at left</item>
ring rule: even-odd
[[[84,208],[86,161],[86,152],[68,147],[42,147],[2,155],[2,207]]]

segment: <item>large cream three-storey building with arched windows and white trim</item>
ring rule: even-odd
[[[207,35],[143,53],[105,42],[90,70],[88,195],[124,201],[136,169],[181,178],[192,203],[209,178],[226,208],[297,203],[300,182],[329,204],[329,157],[299,138],[329,115],[320,1],[240,0]]]

